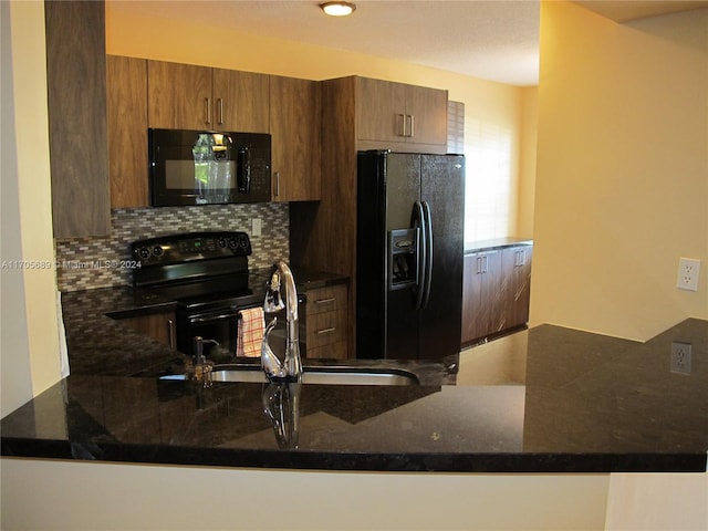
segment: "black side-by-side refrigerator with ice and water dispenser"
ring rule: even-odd
[[[356,355],[460,352],[462,155],[357,154]]]

